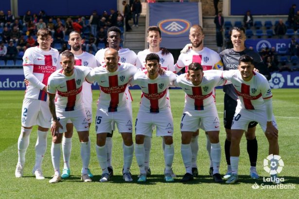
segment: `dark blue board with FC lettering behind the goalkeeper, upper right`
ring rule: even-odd
[[[299,39],[296,40],[299,42]],[[268,47],[271,49],[275,47],[276,51],[280,48],[290,48],[291,39],[246,39],[245,46],[252,47],[254,51],[258,52],[261,48]]]

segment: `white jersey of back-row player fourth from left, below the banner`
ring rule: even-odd
[[[173,55],[171,53],[162,55],[162,50],[160,50],[158,52],[151,52],[151,51],[149,51],[149,49],[145,49],[143,51],[138,52],[136,67],[140,68],[141,70],[146,69],[146,67],[145,67],[145,57],[149,53],[158,54],[158,56],[160,58],[161,68],[163,68],[165,70],[172,71],[172,72],[176,72],[176,69],[175,69],[175,66],[174,66],[174,57],[173,57]]]

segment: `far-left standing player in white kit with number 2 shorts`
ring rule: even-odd
[[[49,76],[56,70],[58,50],[51,48],[53,42],[49,29],[37,31],[37,47],[26,50],[23,56],[25,78],[29,81],[23,100],[21,115],[21,133],[18,138],[18,164],[15,175],[23,176],[25,154],[29,145],[29,136],[33,125],[38,125],[35,145],[35,166],[33,174],[36,179],[45,179],[41,164],[47,148],[47,134],[51,127],[51,113],[47,105],[47,83]]]

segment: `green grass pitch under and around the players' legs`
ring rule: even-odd
[[[199,153],[197,166],[199,178],[188,184],[179,182],[185,169],[180,154],[180,118],[184,106],[182,90],[170,90],[171,107],[175,123],[174,145],[175,158],[173,170],[178,175],[175,182],[166,183],[163,179],[164,160],[161,138],[153,136],[150,167],[152,176],[146,183],[137,183],[139,168],[134,157],[131,172],[133,182],[125,183],[122,176],[123,150],[122,138],[118,133],[113,136],[113,167],[114,177],[110,182],[98,182],[102,174],[95,152],[95,130],[90,129],[91,158],[90,170],[95,175],[93,182],[80,182],[81,158],[78,135],[74,133],[72,154],[70,159],[71,177],[57,184],[48,181],[53,175],[51,162],[51,134],[48,135],[48,147],[42,169],[46,180],[35,180],[32,168],[35,161],[36,127],[30,137],[27,150],[24,177],[15,178],[15,168],[18,160],[17,143],[20,132],[21,106],[23,91],[0,91],[0,198],[299,198],[299,89],[277,89],[273,92],[273,112],[279,126],[280,155],[284,162],[280,177],[284,184],[295,184],[296,189],[253,189],[251,186],[264,183],[263,177],[268,174],[263,169],[264,158],[268,154],[268,142],[258,126],[256,130],[259,152],[257,170],[261,178],[252,180],[249,176],[249,159],[246,151],[245,136],[241,142],[239,164],[240,181],[236,184],[216,184],[209,174],[209,158],[206,150],[206,136],[199,134]],[[133,121],[137,116],[140,90],[133,90]],[[93,91],[93,114],[96,113],[95,101],[99,92]],[[221,174],[227,166],[224,153],[225,130],[223,127],[223,92],[216,91],[217,109],[221,121],[220,143],[222,147]],[[94,119],[94,118],[93,118]],[[133,133],[133,140],[135,132]],[[63,160],[61,156],[61,169]],[[265,183],[267,184],[267,183]],[[268,183],[270,184],[270,183]]]

